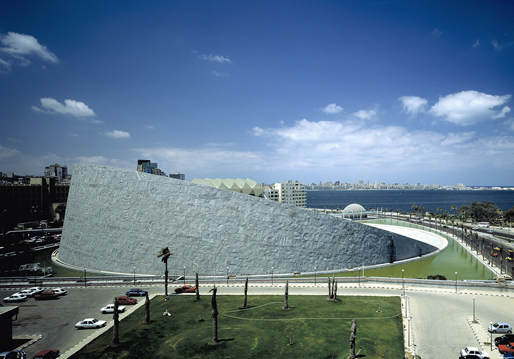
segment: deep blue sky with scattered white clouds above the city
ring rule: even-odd
[[[514,186],[512,1],[2,1],[0,171]]]

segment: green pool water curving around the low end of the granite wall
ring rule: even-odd
[[[418,229],[429,230],[423,226],[406,223],[391,219],[366,221],[366,223],[392,224],[401,225]],[[437,232],[434,229],[431,232]],[[493,272],[489,270],[478,259],[472,256],[461,244],[457,243],[451,237],[444,235],[448,239],[448,247],[441,253],[413,262],[389,266],[384,268],[364,270],[366,277],[396,277],[401,278],[401,270],[405,278],[427,278],[428,275],[441,274],[446,276],[448,280],[455,279],[491,279]],[[362,275],[362,270],[360,271]],[[356,276],[356,272],[339,273],[340,276]]]

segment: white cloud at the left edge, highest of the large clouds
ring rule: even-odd
[[[40,44],[38,40],[31,35],[16,32],[0,34],[0,43],[3,45],[3,47],[0,47],[0,52],[11,56],[23,66],[30,64],[30,61],[27,59],[29,55],[38,56],[40,59],[54,64],[59,62],[59,59],[54,53],[48,50],[45,45]],[[5,61],[0,61],[0,63],[6,66]]]

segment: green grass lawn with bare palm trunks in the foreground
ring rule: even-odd
[[[205,289],[207,291],[207,289]],[[243,291],[243,290],[242,290]],[[205,292],[204,292],[205,293]],[[248,295],[251,309],[236,311],[243,295],[218,295],[218,344],[212,344],[211,297],[172,295],[150,303],[151,323],[143,324],[144,305],[120,322],[120,342],[109,348],[113,330],[72,356],[79,358],[343,358],[350,354],[352,319],[357,317],[357,357],[403,358],[399,297]],[[377,311],[378,304],[381,311]],[[168,309],[171,316],[163,316]],[[234,317],[223,315],[225,313]],[[204,321],[200,322],[200,315]],[[244,319],[243,319],[244,318]],[[251,320],[267,319],[267,320]],[[287,320],[277,320],[287,319]]]

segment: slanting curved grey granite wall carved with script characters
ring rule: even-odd
[[[73,168],[59,259],[109,272],[301,273],[387,263],[430,244],[288,204],[90,164]]]

